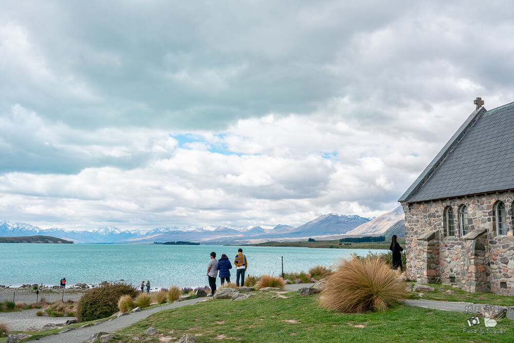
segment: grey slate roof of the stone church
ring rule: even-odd
[[[475,110],[400,197],[423,202],[514,189],[514,102]]]

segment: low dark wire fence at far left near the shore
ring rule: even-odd
[[[2,290],[0,291],[0,302],[12,301],[15,304],[46,301],[48,303],[57,301],[79,301],[87,291],[77,290],[56,290],[56,291],[20,291]]]

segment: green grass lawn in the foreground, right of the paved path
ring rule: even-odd
[[[469,314],[398,305],[383,313],[342,314],[317,305],[318,295],[300,297],[299,292],[273,297],[265,292],[249,299],[209,300],[166,310],[117,332],[119,341],[145,338],[150,326],[159,330],[153,341],[176,341],[183,334],[197,334],[199,342],[220,339],[241,342],[511,342],[514,321],[498,321],[496,331],[479,326],[468,328]],[[467,333],[470,329],[477,333]],[[463,332],[464,330],[464,332]]]

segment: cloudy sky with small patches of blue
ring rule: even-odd
[[[512,7],[0,0],[0,220],[390,211],[476,97],[514,101]]]

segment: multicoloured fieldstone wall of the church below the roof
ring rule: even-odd
[[[505,204],[507,236],[496,234],[494,204],[498,201]],[[443,283],[461,284],[470,292],[488,292],[490,289],[493,293],[514,295],[513,201],[514,193],[505,191],[424,203],[402,203],[407,276],[426,283],[440,278]],[[468,210],[467,237],[461,237],[457,215],[458,207],[463,204]],[[445,234],[443,212],[447,206],[451,206],[454,213],[454,237]],[[432,243],[418,239],[432,230],[435,231],[430,240]],[[478,231],[481,234],[475,235],[474,232]],[[426,250],[429,245],[438,245],[439,250],[431,248],[431,256],[428,256]],[[481,250],[481,245],[484,250]],[[436,273],[433,275],[435,278],[428,278],[427,273]]]

